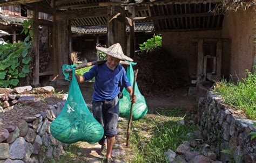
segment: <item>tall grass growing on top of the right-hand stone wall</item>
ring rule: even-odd
[[[256,119],[256,72],[246,70],[244,79],[237,84],[222,80],[214,92],[221,95],[225,103],[245,113],[251,119]]]

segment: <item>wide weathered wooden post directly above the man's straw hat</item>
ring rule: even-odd
[[[126,54],[125,7],[109,5],[107,8],[107,46],[119,43]],[[117,13],[120,15],[113,18]]]

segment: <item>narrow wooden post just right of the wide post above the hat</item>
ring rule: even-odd
[[[132,26],[129,25],[130,28],[130,33],[129,33],[129,40],[128,40],[128,44],[127,44],[127,55],[130,57],[134,56],[134,52],[135,52],[135,37],[134,37],[134,28],[135,28],[135,24],[134,24],[134,20],[133,18],[135,17],[135,7],[134,6],[130,6],[130,10],[129,10],[132,14],[132,16],[130,17],[132,20]]]

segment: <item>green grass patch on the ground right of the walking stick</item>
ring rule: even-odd
[[[196,125],[178,125],[177,121],[188,119],[182,109],[150,111],[145,118],[132,122],[130,162],[166,162],[164,152],[173,151],[185,140],[193,137],[187,133],[197,129]],[[187,120],[186,120],[187,121]],[[120,123],[122,128],[127,124]],[[139,130],[134,130],[138,128]],[[128,157],[128,156],[127,156]]]

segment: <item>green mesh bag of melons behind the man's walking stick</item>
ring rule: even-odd
[[[133,65],[136,63],[129,62],[130,66],[127,66],[127,78],[133,86],[134,72]],[[123,98],[119,99],[119,115],[123,118],[130,118],[131,101],[130,94],[126,89],[123,89]],[[136,121],[144,117],[147,113],[147,104],[144,96],[140,93],[137,82],[135,83],[134,95],[136,95],[136,103],[133,104],[132,121]]]

